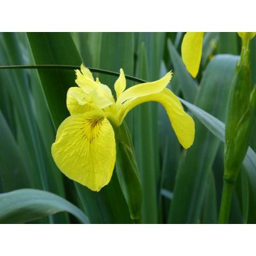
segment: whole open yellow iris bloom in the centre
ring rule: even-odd
[[[76,83],[67,92],[70,116],[58,128],[52,144],[52,156],[68,178],[99,191],[109,183],[116,159],[113,127],[122,124],[132,108],[147,101],[160,102],[170,118],[180,144],[189,148],[194,140],[195,124],[184,112],[179,99],[166,88],[172,78],[168,72],[152,83],[142,83],[125,90],[124,71],[115,82],[116,100],[111,90],[84,65],[76,70]],[[113,126],[112,126],[113,125]]]

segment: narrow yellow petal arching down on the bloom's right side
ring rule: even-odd
[[[184,111],[182,104],[175,94],[167,88],[164,88],[160,93],[147,95],[145,97],[125,102],[119,112],[121,122],[132,108],[148,101],[156,101],[163,105],[180,144],[184,148],[191,147],[195,138],[195,122],[193,118]]]

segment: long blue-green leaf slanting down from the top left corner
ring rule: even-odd
[[[16,33],[3,33],[0,42],[3,48],[4,64],[22,65],[25,63],[22,56],[22,47]],[[12,99],[15,125],[17,129],[18,145],[22,158],[29,168],[31,186],[38,189],[48,189],[49,184],[46,177],[46,166],[44,156],[40,148],[40,138],[36,127],[36,120],[31,108],[30,88],[26,70],[5,70],[1,72],[4,88],[9,91]],[[22,143],[25,142],[26,143]]]

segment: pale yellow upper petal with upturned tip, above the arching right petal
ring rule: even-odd
[[[172,72],[168,72],[161,79],[151,82],[136,84],[125,90],[116,100],[116,104],[122,104],[125,100],[136,99],[138,97],[147,96],[153,93],[161,92],[172,79]]]

